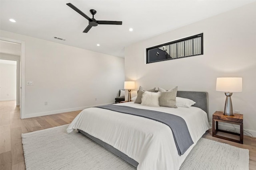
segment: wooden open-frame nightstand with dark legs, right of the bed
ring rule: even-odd
[[[228,141],[243,144],[243,141],[244,141],[243,119],[244,118],[243,118],[242,114],[234,114],[232,116],[228,116],[228,115],[224,115],[224,112],[222,112],[222,111],[215,111],[215,113],[212,115],[212,136],[213,137],[218,137],[218,138],[221,138],[221,139],[226,139]],[[240,125],[240,134],[218,129],[218,122],[219,121],[220,122],[225,122],[225,123]],[[215,122],[216,122],[216,129],[215,129]],[[236,139],[232,139],[232,138],[217,135],[217,132],[224,132],[224,133],[229,133],[229,134],[232,134],[232,135],[238,135],[238,136],[240,136],[240,140],[236,140]]]

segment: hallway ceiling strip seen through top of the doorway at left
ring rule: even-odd
[[[21,46],[17,43],[0,41],[0,53],[20,56]]]

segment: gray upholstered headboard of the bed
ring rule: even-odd
[[[208,92],[178,91],[177,97],[193,100],[196,102],[193,106],[201,108],[208,115]]]

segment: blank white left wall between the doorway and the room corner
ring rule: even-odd
[[[0,35],[25,41],[25,82],[34,86],[24,87],[24,118],[114,103],[124,86],[123,58],[3,30]]]

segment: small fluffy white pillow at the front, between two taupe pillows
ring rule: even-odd
[[[144,92],[142,94],[142,102],[141,105],[144,106],[152,106],[152,107],[158,107],[159,106],[159,96],[160,93],[157,92]]]

